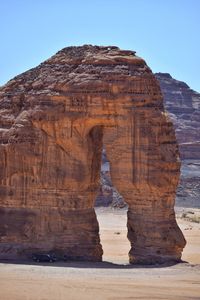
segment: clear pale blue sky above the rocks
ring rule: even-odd
[[[200,91],[200,0],[0,0],[0,85],[70,45],[137,51]]]

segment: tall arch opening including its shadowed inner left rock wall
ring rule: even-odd
[[[88,133],[89,165],[94,203],[99,224],[103,261],[128,263],[130,242],[127,239],[127,204],[112,183],[110,162],[103,145],[104,127],[94,126]],[[115,211],[114,211],[115,210]]]

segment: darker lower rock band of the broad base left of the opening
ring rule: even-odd
[[[33,253],[54,253],[69,260],[102,259],[93,208],[1,208],[0,226],[0,259],[27,259]]]

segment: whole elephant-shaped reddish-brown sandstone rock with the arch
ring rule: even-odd
[[[128,203],[131,263],[177,261],[180,162],[159,85],[117,47],[68,47],[0,90],[0,258],[101,260],[94,212],[102,146]]]

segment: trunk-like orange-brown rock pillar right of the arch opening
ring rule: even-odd
[[[130,263],[179,261],[186,242],[174,213],[180,164],[172,124],[138,109],[104,140],[112,182],[129,205]]]

